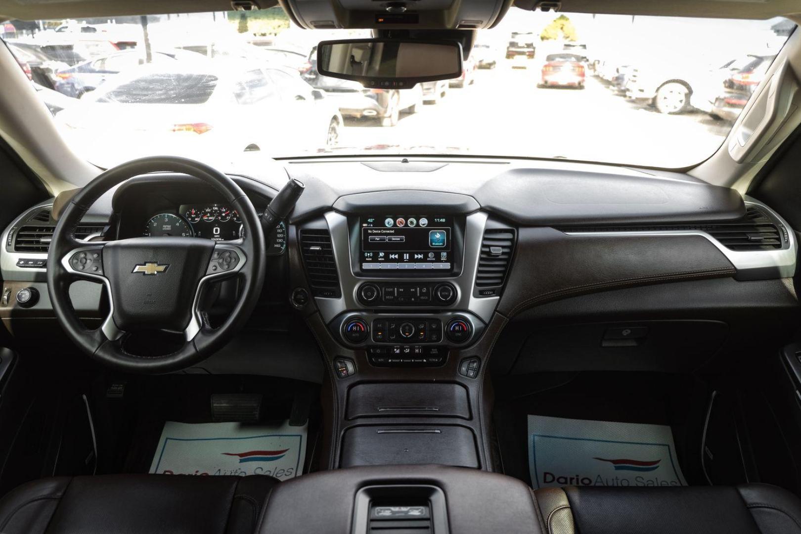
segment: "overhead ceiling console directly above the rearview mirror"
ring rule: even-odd
[[[512,0],[282,0],[309,29],[480,30],[501,19]]]

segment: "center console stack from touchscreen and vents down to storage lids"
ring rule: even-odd
[[[491,469],[485,363],[514,229],[465,195],[382,191],[334,208],[296,234],[332,377],[321,467]]]

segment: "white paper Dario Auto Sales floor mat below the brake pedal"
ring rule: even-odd
[[[288,480],[303,472],[306,426],[167,421],[151,473],[271,475]]]

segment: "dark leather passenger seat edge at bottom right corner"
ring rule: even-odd
[[[801,534],[801,500],[767,484],[689,488],[545,488],[548,534]]]

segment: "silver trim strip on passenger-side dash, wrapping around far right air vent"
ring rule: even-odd
[[[795,258],[798,252],[798,242],[795,233],[787,221],[778,213],[771,210],[759,200],[751,197],[745,198],[746,206],[755,206],[765,211],[769,219],[779,227],[779,232],[787,231],[787,246],[775,251],[733,251],[725,247],[717,239],[705,231],[700,230],[664,230],[664,231],[597,231],[597,232],[570,232],[566,235],[581,235],[582,237],[626,237],[638,235],[700,235],[709,240],[718,251],[737,269],[737,278],[741,280],[789,278],[795,275]]]

